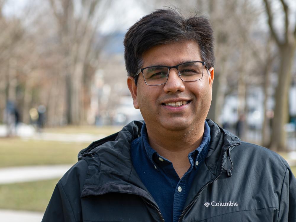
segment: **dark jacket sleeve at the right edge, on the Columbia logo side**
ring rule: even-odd
[[[279,222],[296,221],[296,178],[286,163],[285,173],[279,207]]]

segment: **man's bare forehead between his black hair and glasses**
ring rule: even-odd
[[[202,61],[195,41],[173,42],[154,46],[143,53],[143,67],[153,65],[174,66],[187,61]]]

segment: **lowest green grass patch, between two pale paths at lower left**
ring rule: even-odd
[[[44,212],[58,179],[0,185],[0,209]]]

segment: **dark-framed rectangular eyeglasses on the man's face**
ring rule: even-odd
[[[184,62],[175,66],[149,66],[139,69],[136,76],[143,73],[148,86],[159,86],[168,81],[170,69],[176,68],[182,81],[193,82],[202,78],[203,66],[206,66],[205,62],[200,61]]]

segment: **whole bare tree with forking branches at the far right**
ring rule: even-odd
[[[288,121],[288,92],[291,84],[291,68],[296,48],[296,26],[290,29],[289,7],[284,0],[280,0],[284,13],[284,33],[280,36],[274,25],[271,2],[263,0],[268,16],[268,27],[279,50],[278,86],[275,94],[274,118],[272,122],[272,134],[270,148],[273,150],[286,149],[286,132],[284,129]]]

